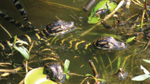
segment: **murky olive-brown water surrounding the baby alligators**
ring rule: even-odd
[[[71,61],[69,70],[72,73],[77,73],[80,75],[85,75],[87,73],[93,74],[92,69],[88,63],[88,60],[92,60],[96,66],[98,73],[101,78],[106,79],[107,84],[145,84],[149,83],[149,80],[145,82],[133,82],[131,78],[143,74],[139,66],[142,64],[149,70],[149,65],[144,63],[142,59],[148,59],[150,56],[149,47],[142,51],[148,40],[140,39],[139,41],[134,41],[129,43],[129,47],[121,51],[104,51],[94,49],[92,45],[85,49],[85,45],[92,43],[95,39],[100,38],[103,34],[115,34],[122,37],[122,41],[125,42],[127,37],[126,33],[129,32],[132,22],[136,18],[131,19],[128,24],[116,29],[106,29],[103,25],[90,25],[87,23],[87,17],[90,12],[83,11],[83,7],[86,6],[89,0],[43,0],[44,2],[38,0],[20,0],[21,4],[27,11],[27,15],[32,24],[39,29],[43,29],[48,23],[53,22],[57,19],[65,21],[74,21],[77,26],[77,30],[68,33],[64,36],[57,37],[54,41],[49,40],[51,46],[45,46],[44,48],[49,48],[51,51],[42,52],[42,46],[44,44],[35,45],[33,51],[38,51],[42,53],[56,53],[62,61],[69,59]],[[51,4],[50,2],[57,3]],[[96,1],[97,3],[98,1]],[[58,5],[59,3],[59,5]],[[67,5],[70,7],[62,6]],[[73,9],[74,7],[76,9]],[[123,9],[123,8],[122,8]],[[0,10],[9,14],[11,17],[15,18],[20,23],[23,23],[22,17],[19,12],[16,10],[12,0],[0,0]],[[119,13],[120,15],[124,13],[121,20],[125,21],[127,18],[131,17],[133,14],[142,13],[142,8],[132,4],[129,10],[123,9],[124,12]],[[80,19],[82,17],[82,19]],[[107,20],[109,25],[113,25],[113,19]],[[10,32],[12,36],[14,35],[23,35],[26,32],[17,29],[14,25],[11,25],[3,18],[0,17],[0,23]],[[9,36],[4,32],[3,29],[0,29],[1,35],[0,39],[8,39]],[[122,33],[124,32],[124,33]],[[73,41],[74,40],[74,41]],[[72,41],[72,46],[70,44]],[[18,54],[16,54],[18,55]],[[33,59],[43,59],[42,57],[36,57]],[[118,59],[120,61],[118,62]],[[17,62],[21,63],[22,58],[16,56]],[[40,63],[40,62],[39,62]],[[35,64],[30,65],[33,68],[42,66],[35,62]],[[117,76],[114,76],[118,70],[118,63],[120,63],[119,68],[125,69],[129,76],[127,79],[119,81]],[[20,72],[19,74],[12,74],[6,79],[1,80],[0,84],[18,84],[24,78],[25,72]],[[64,84],[80,84],[85,77],[71,75],[69,80],[66,80]],[[88,79],[91,80],[91,79]],[[84,84],[86,84],[84,82]],[[92,84],[92,83],[91,83]]]

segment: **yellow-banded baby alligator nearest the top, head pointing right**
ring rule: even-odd
[[[56,20],[55,22],[47,25],[47,27],[44,28],[44,30],[41,32],[38,32],[38,33],[31,32],[22,36],[18,36],[17,39],[21,39],[23,41],[31,43],[32,40],[41,40],[43,37],[66,34],[68,32],[73,31],[75,28],[76,27],[74,27],[74,22],[72,21],[65,22],[62,20]],[[11,38],[7,41],[0,43],[0,52],[3,52],[3,51],[10,52],[10,50],[12,49],[11,48],[12,46],[9,46],[8,44],[13,44],[13,41],[14,41],[14,38]],[[19,44],[16,44],[16,45],[19,45]]]

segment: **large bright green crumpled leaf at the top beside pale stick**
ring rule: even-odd
[[[115,2],[109,1],[109,0],[103,0],[100,1],[91,11],[91,15],[88,17],[88,23],[89,24],[96,24],[100,22],[100,17],[97,16],[97,12],[100,10],[106,10],[108,6],[108,9],[110,12],[112,12],[116,7],[117,4]]]

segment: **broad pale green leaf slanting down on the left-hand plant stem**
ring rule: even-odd
[[[29,54],[29,51],[25,47],[23,47],[23,46],[21,46],[21,47],[14,46],[14,49],[19,51],[24,58],[29,60],[30,54]]]

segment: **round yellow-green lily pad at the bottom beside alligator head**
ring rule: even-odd
[[[43,74],[43,67],[35,68],[26,75],[24,84],[57,84],[46,78],[46,74]]]

